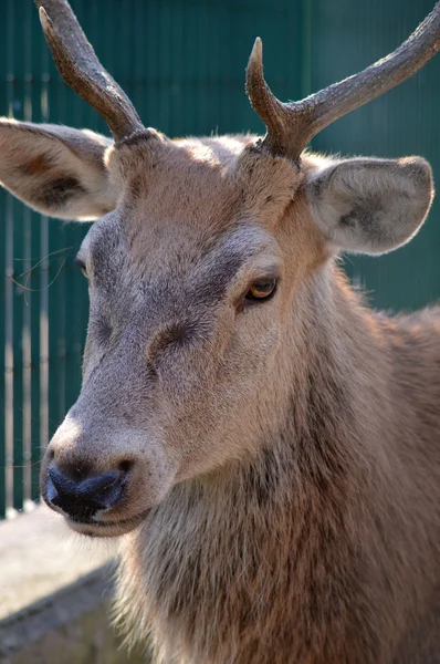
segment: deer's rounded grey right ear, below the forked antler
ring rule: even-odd
[[[347,159],[312,172],[307,199],[328,242],[385,253],[410,240],[430,208],[432,174],[420,157]]]

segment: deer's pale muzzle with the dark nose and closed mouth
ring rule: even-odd
[[[170,488],[179,468],[158,436],[104,422],[92,400],[72,407],[41,467],[41,494],[66,525],[92,537],[119,537],[137,528]]]

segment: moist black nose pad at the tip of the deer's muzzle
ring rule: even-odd
[[[73,519],[86,521],[97,510],[115,507],[123,497],[127,469],[111,470],[103,475],[67,477],[53,461],[46,478],[46,501],[67,513]]]

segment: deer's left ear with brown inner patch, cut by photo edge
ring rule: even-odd
[[[112,143],[88,131],[0,118],[0,181],[40,212],[96,219],[116,205],[104,162]]]

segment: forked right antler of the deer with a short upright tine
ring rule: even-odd
[[[256,38],[247,69],[247,94],[266,125],[261,149],[297,159],[324,127],[412,76],[439,49],[440,1],[390,55],[305,100],[283,104],[264,81],[263,46]]]

